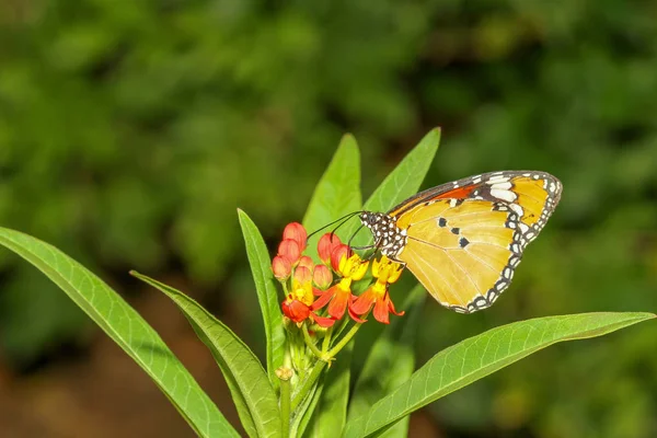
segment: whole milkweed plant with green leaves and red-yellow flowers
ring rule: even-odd
[[[210,349],[250,437],[403,437],[414,411],[539,349],[654,318],[604,312],[519,321],[447,347],[415,367],[411,343],[424,289],[402,291],[397,309],[389,288],[403,266],[385,256],[358,255],[353,247],[365,237],[348,241],[355,221],[336,232],[308,232],[364,208],[387,211],[415,194],[439,139],[438,129],[430,131],[362,205],[358,147],[345,136],[304,218],[283,230],[273,258],[256,226],[238,210],[264,321],[264,364],[193,299],[131,273],[173,300]],[[56,283],[150,376],[199,437],[239,436],[158,333],[103,280],[21,232],[0,229],[0,243]],[[359,372],[351,372],[359,328],[391,320],[376,342],[359,345],[368,349],[367,358]]]

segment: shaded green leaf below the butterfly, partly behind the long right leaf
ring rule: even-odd
[[[377,401],[411,378],[415,370],[415,334],[426,296],[422,286],[414,287],[401,308],[406,312],[404,316],[395,318],[373,344],[354,388],[349,422],[365,415]],[[406,437],[407,433],[406,416],[388,429],[384,436]]]

